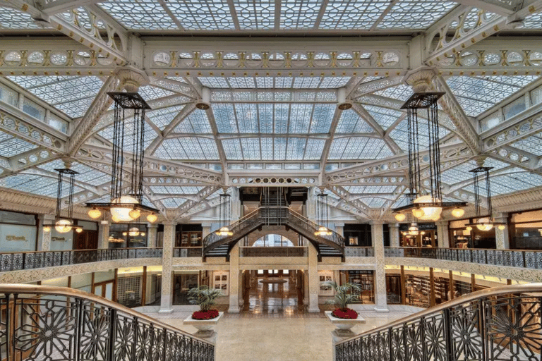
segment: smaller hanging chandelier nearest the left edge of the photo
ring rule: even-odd
[[[54,217],[54,224],[44,224],[43,230],[46,232],[51,231],[51,227],[54,227],[54,229],[59,233],[68,233],[73,228],[75,228],[75,231],[77,233],[83,232],[83,228],[80,226],[74,226],[73,225],[73,186],[75,184],[75,176],[76,174],[79,174],[76,171],[72,171],[71,169],[65,168],[65,169],[55,169],[55,171],[59,172],[59,178],[58,183],[56,185],[56,216]],[[61,203],[62,203],[62,183],[64,174],[68,176],[68,200],[66,205],[66,216],[62,216],[62,209],[61,209]]]

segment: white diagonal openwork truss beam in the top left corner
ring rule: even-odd
[[[85,45],[85,47],[97,51],[98,54],[103,54],[104,57],[111,59],[116,65],[122,66],[128,62],[128,56],[124,53],[128,45],[126,30],[119,28],[116,24],[106,23],[107,20],[101,19],[93,11],[86,9],[87,14],[80,14],[72,10],[69,13],[69,18],[66,18],[64,15],[49,16],[44,11],[33,6],[33,4],[23,0],[0,0],[0,5],[16,8],[18,11],[30,14],[34,19],[44,20],[53,29],[59,30],[59,32],[71,37],[76,42]],[[79,19],[81,16],[87,19],[82,22]],[[106,23],[107,40],[102,38],[100,34],[101,29],[98,27],[97,21],[90,20],[92,18],[101,19]],[[92,28],[90,31],[84,29],[81,27],[81,23],[90,23]],[[116,38],[120,40],[120,46],[117,46]]]

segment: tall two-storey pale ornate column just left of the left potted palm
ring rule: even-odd
[[[175,243],[176,221],[164,221],[164,248],[162,250],[162,300],[159,313],[173,312],[173,246]]]

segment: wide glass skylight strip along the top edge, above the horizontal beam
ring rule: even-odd
[[[128,30],[425,30],[453,1],[227,0],[99,3]]]

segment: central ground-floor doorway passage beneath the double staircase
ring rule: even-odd
[[[285,315],[305,312],[303,272],[287,269],[246,272],[243,312]]]

